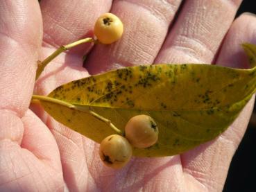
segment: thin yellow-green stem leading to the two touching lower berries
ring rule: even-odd
[[[89,110],[87,107],[84,107],[84,106],[81,106],[81,105],[72,105],[72,104],[67,103],[65,101],[61,101],[61,100],[58,100],[56,98],[51,98],[51,97],[48,97],[48,96],[39,96],[39,95],[33,95],[32,96],[31,103],[38,103],[39,101],[47,101],[47,102],[51,102],[51,103],[56,103],[58,105],[69,107],[71,109],[78,110],[80,112],[87,112],[87,113],[91,114],[92,116],[96,117],[96,119],[99,119],[100,121],[103,121],[104,123],[109,125],[110,128],[112,128],[112,130],[114,130],[118,134],[123,134],[121,132],[121,130],[119,130],[116,126],[114,126],[113,123],[111,123],[111,121],[109,119],[105,119],[105,117],[97,114],[96,112],[93,112],[92,110]]]

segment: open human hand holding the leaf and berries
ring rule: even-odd
[[[240,44],[256,44],[256,18],[247,14],[233,21],[240,0],[189,0],[177,13],[180,3],[0,1],[0,191],[223,189],[253,98],[213,141],[182,155],[133,158],[118,171],[102,164],[99,144],[54,121],[38,106],[31,106],[34,112],[28,109],[33,91],[46,95],[65,82],[123,66],[186,62],[248,67]],[[121,40],[62,53],[35,82],[38,59],[62,44],[92,36],[96,18],[110,11],[123,21]],[[89,52],[83,67],[81,58]]]

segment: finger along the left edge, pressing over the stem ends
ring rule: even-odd
[[[42,21],[37,1],[0,1],[0,108],[22,116],[31,100]]]

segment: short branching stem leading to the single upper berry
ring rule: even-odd
[[[67,51],[68,49],[71,49],[74,46],[78,46],[79,44],[84,44],[87,42],[96,42],[96,40],[92,39],[91,37],[88,37],[83,40],[78,40],[76,42],[73,42],[71,44],[62,45],[56,51],[54,51],[51,55],[49,55],[48,58],[43,60],[42,62],[37,61],[37,73],[35,76],[35,80],[37,80],[37,78],[39,78],[42,71],[44,71],[44,67],[46,67],[46,65],[49,64],[49,62],[51,62],[54,58],[56,58],[58,55],[60,55],[60,53]]]

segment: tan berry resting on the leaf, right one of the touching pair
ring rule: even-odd
[[[158,139],[158,128],[151,116],[133,116],[125,128],[126,138],[135,148],[148,148]]]

